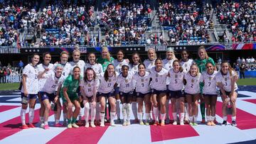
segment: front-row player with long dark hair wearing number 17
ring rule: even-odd
[[[100,74],[100,86],[97,92],[97,97],[100,100],[100,126],[105,126],[105,106],[106,99],[108,99],[111,106],[110,110],[110,125],[115,126],[114,116],[116,114],[116,99],[114,96],[114,85],[117,82],[117,72],[114,72],[114,65],[110,64],[107,66],[107,70],[104,73]]]

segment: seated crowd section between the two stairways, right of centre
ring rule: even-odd
[[[211,9],[211,5],[206,4],[203,7],[203,4],[196,1],[160,4],[159,23],[169,30],[171,43],[209,43],[207,29],[213,24],[213,21],[210,21]]]

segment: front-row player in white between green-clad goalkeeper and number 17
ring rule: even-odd
[[[89,128],[89,111],[91,109],[91,126],[95,128],[96,115],[96,94],[100,81],[96,79],[96,73],[92,68],[85,70],[85,77],[80,82],[80,92],[83,96],[83,104],[85,106],[85,128]]]

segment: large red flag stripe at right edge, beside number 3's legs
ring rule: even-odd
[[[217,101],[216,104],[216,114],[218,116],[223,116],[222,115],[222,102]],[[228,116],[231,117],[231,116]],[[246,111],[242,111],[241,109],[237,108],[237,116],[236,116],[236,122],[238,124],[238,128],[240,130],[247,130],[247,129],[251,129],[251,128],[256,128],[256,116],[251,114],[251,113],[247,113]],[[231,123],[232,120],[231,118],[228,118],[228,122]]]

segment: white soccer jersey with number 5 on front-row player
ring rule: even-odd
[[[169,70],[170,84],[168,89],[171,91],[178,91],[183,89],[183,79],[185,72],[174,72],[174,69]]]

